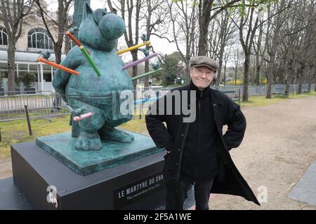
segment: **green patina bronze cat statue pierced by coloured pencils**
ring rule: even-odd
[[[124,62],[115,49],[117,39],[125,31],[124,20],[119,15],[101,8],[93,11],[84,3],[78,38],[90,55],[75,46],[61,64],[78,71],[79,75],[60,69],[55,72],[53,87],[73,109],[72,117],[93,113],[84,120],[70,120],[76,141],[74,147],[79,151],[100,151],[101,139],[123,144],[134,139],[132,134],[114,129],[132,118],[120,110],[125,101],[121,93],[133,90],[133,82],[129,73],[122,70]]]

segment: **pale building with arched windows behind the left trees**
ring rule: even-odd
[[[43,0],[44,8],[47,8],[46,1]],[[48,15],[54,20],[56,14],[53,12],[48,12]],[[50,24],[50,31],[53,35],[58,34],[58,27]],[[6,29],[4,26],[4,21],[0,12],[0,75],[3,80],[2,88],[4,91],[8,90],[7,81],[7,63],[8,54],[6,49],[8,48],[8,35],[6,34]],[[51,81],[53,80],[53,74],[55,68],[37,62],[41,52],[45,50],[50,50],[52,52],[50,61],[55,62],[55,55],[53,54],[53,43],[51,38],[49,38],[44,23],[41,19],[39,9],[34,3],[32,8],[32,13],[29,13],[27,17],[24,18],[22,24],[22,35],[18,39],[15,45],[15,73],[19,76],[21,73],[34,73],[37,76],[37,82],[34,83],[34,88],[36,90],[53,90]],[[62,49],[64,51],[64,49]],[[62,59],[65,55],[62,55]],[[20,85],[18,87],[20,90],[24,90],[24,86]]]

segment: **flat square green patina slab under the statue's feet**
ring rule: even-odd
[[[164,151],[164,148],[157,148],[150,137],[136,133],[133,136],[135,140],[130,144],[102,141],[100,151],[77,151],[74,148],[76,138],[72,138],[70,132],[39,137],[36,143],[72,171],[86,176]]]

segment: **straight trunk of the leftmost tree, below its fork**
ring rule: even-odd
[[[15,91],[15,43],[8,39],[8,91]]]

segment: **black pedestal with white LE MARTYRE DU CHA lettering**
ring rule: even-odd
[[[11,146],[13,181],[34,209],[158,209],[165,202],[163,155],[80,176],[33,142]],[[54,195],[55,205],[48,202]]]

